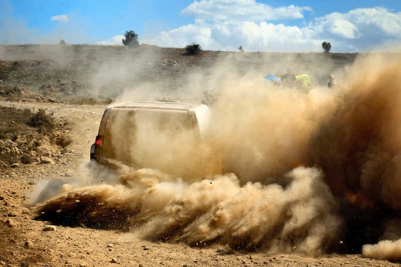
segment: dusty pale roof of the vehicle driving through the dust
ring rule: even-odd
[[[202,104],[188,104],[177,101],[130,101],[120,102],[109,105],[107,108],[149,108],[149,109],[175,109],[175,110],[193,110]]]

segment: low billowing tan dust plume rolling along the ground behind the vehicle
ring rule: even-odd
[[[152,169],[120,184],[68,191],[36,206],[60,223],[134,228],[150,240],[214,242],[233,248],[318,253],[336,240],[336,203],[315,168],[286,174],[288,185],[246,183],[234,174],[187,183]],[[330,230],[327,230],[330,228]]]

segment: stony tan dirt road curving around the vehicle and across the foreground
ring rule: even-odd
[[[28,164],[8,168],[0,174],[0,211],[2,220],[12,219],[13,229],[22,237],[8,240],[13,245],[6,248],[7,259],[0,266],[396,266],[383,260],[369,259],[360,254],[331,254],[310,257],[300,254],[266,254],[263,251],[226,251],[224,245],[193,248],[180,243],[149,242],[140,240],[132,233],[64,227],[57,225],[55,231],[42,231],[46,221],[34,220],[28,207],[27,196],[34,184],[43,179],[72,179],[86,175],[89,148],[97,134],[105,106],[71,105],[43,102],[0,102],[1,106],[16,108],[46,108],[54,112],[73,142],[69,152],[59,156],[55,164]],[[7,238],[11,239],[10,236]],[[32,246],[24,247],[26,241]],[[41,257],[27,260],[31,250],[39,251]],[[37,261],[37,262],[35,262]],[[21,265],[22,266],[22,265]]]

